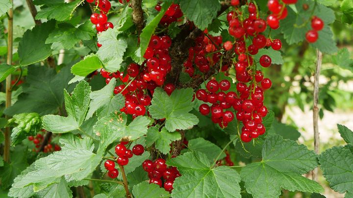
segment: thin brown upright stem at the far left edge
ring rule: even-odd
[[[10,0],[13,4],[13,0]],[[12,50],[13,50],[13,10],[9,9],[8,14],[8,25],[7,25],[7,65],[12,66]],[[11,74],[6,77],[6,102],[5,107],[11,106]],[[8,118],[6,116],[6,118]],[[5,144],[3,158],[5,162],[10,160],[10,127],[6,127],[5,133]]]

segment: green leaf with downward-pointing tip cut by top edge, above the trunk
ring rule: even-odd
[[[221,4],[218,0],[180,0],[180,9],[186,18],[204,30],[217,17]]]

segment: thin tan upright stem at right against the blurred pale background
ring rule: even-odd
[[[320,134],[319,134],[319,78],[320,78],[320,70],[322,65],[322,52],[320,50],[316,51],[317,59],[316,59],[316,69],[314,74],[314,101],[313,101],[313,127],[314,127],[314,151],[319,154],[319,146],[320,146]],[[312,171],[312,179],[317,181],[317,173],[318,168],[315,168]]]

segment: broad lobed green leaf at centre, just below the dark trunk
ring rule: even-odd
[[[156,88],[149,108],[152,118],[165,118],[165,128],[170,132],[192,128],[199,122],[194,114],[189,113],[193,109],[193,94],[192,88],[183,88],[168,96],[163,89]]]

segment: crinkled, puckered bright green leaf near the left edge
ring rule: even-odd
[[[8,120],[8,124],[16,126],[12,129],[12,145],[22,142],[27,136],[36,135],[40,131],[42,121],[38,113],[21,113]]]

